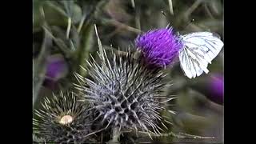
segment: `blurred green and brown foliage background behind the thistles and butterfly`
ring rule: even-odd
[[[223,17],[221,0],[34,0],[34,109],[45,96],[72,87],[74,72],[86,76],[80,66],[98,50],[94,23],[106,49],[123,50],[134,48],[138,34],[168,24],[180,34],[211,31],[224,41]],[[168,103],[177,114],[164,114],[173,122],[170,130],[215,138],[161,137],[157,142],[223,142],[223,94],[217,96],[220,89],[211,86],[214,75],[223,77],[223,60],[222,50],[210,73],[194,79],[186,78],[178,62],[166,70],[166,81],[173,86],[165,92],[177,96]]]

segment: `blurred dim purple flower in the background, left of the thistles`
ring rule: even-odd
[[[44,86],[54,89],[56,83],[60,78],[66,77],[68,73],[67,64],[65,59],[60,54],[51,55],[47,58],[46,64],[46,79]]]

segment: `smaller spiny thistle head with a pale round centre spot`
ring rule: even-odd
[[[88,142],[90,124],[86,106],[78,103],[74,93],[68,91],[45,98],[42,110],[35,110],[34,132],[46,142],[82,143]]]

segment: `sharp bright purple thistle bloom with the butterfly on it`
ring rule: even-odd
[[[138,50],[142,50],[146,63],[158,67],[166,67],[173,62],[182,48],[182,42],[172,28],[150,30],[139,35],[135,45]]]

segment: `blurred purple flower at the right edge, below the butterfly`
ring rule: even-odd
[[[224,78],[221,74],[214,74],[209,80],[210,99],[222,104],[224,101]]]

